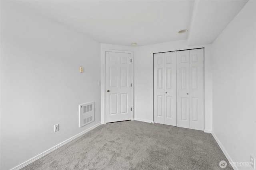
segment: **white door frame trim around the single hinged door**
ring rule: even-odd
[[[103,49],[101,51],[101,58],[100,58],[100,63],[101,63],[101,70],[100,70],[100,75],[101,75],[101,87],[100,87],[100,106],[101,106],[101,124],[106,123],[106,52],[116,52],[116,53],[128,53],[131,54],[131,83],[132,83],[132,95],[131,95],[131,120],[134,120],[134,81],[133,81],[133,52],[132,51],[121,51],[121,50],[113,50],[113,49]]]

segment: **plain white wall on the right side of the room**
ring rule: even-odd
[[[213,134],[230,160],[249,162],[256,157],[256,1],[230,22],[212,52]]]

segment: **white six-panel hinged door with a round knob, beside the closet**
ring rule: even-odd
[[[106,52],[106,123],[131,120],[131,54]]]

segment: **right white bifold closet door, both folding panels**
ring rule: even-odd
[[[177,126],[204,130],[204,49],[177,52]]]

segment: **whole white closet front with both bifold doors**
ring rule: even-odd
[[[204,130],[204,49],[154,53],[154,122]]]

